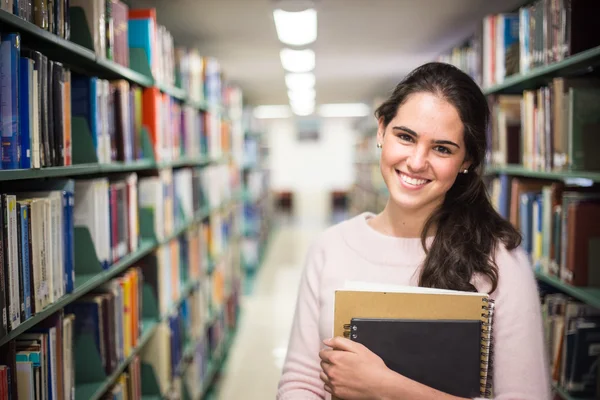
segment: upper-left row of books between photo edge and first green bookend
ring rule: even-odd
[[[71,72],[20,41],[0,44],[2,169],[71,165]]]

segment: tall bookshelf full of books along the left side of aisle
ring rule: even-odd
[[[62,150],[62,147],[58,148],[62,142],[56,139],[56,144],[50,144],[52,160],[43,161],[41,168],[0,170],[3,194],[29,190],[36,195],[45,193],[44,191],[48,191],[50,196],[57,191],[64,194],[61,197],[63,203],[54,201],[56,198],[53,199],[54,202],[50,202],[50,198],[35,198],[48,201],[50,208],[46,209],[48,214],[44,214],[44,218],[47,216],[48,220],[45,222],[50,229],[55,229],[44,231],[44,239],[48,240],[45,245],[55,249],[56,257],[44,261],[53,265],[46,276],[49,281],[44,281],[44,284],[58,285],[59,288],[54,287],[57,292],[47,304],[26,314],[26,317],[18,316],[18,326],[2,326],[7,332],[0,336],[0,379],[12,385],[14,398],[17,391],[21,390],[21,386],[17,388],[16,385],[17,377],[13,370],[16,368],[15,363],[30,363],[32,375],[37,368],[35,371],[39,377],[42,372],[46,372],[41,370],[41,366],[46,365],[46,361],[50,365],[52,359],[52,368],[57,365],[54,364],[55,361],[61,368],[58,372],[53,371],[54,375],[48,375],[47,382],[34,378],[33,385],[44,391],[55,390],[56,398],[102,399],[115,393],[122,395],[124,390],[129,391],[128,398],[134,400],[201,398],[209,391],[235,334],[239,291],[243,285],[243,277],[239,273],[241,267],[237,265],[240,263],[243,226],[237,210],[244,197],[239,184],[240,166],[234,157],[234,154],[243,153],[243,149],[238,148],[239,138],[236,135],[239,134],[232,129],[240,120],[234,114],[241,107],[241,91],[227,82],[216,60],[209,61],[206,56],[198,56],[196,61],[213,63],[210,72],[176,70],[174,66],[179,58],[175,60],[173,57],[172,60],[161,63],[159,74],[153,76],[154,65],[150,65],[145,51],[129,46],[126,35],[127,63],[119,61],[122,54],[117,54],[117,46],[123,46],[123,42],[117,43],[119,38],[116,33],[114,48],[108,48],[108,37],[101,37],[101,41],[107,43],[107,52],[113,52],[112,55],[99,55],[98,49],[94,50],[94,45],[88,41],[98,32],[90,32],[87,22],[82,22],[87,21],[85,13],[90,12],[90,9],[86,10],[86,7],[92,0],[80,2],[81,5],[74,5],[75,1],[70,3],[70,20],[68,13],[55,16],[56,20],[53,20],[56,25],[65,23],[65,26],[69,21],[72,28],[70,38],[61,37],[57,32],[51,32],[36,25],[33,20],[27,20],[33,17],[27,14],[31,10],[23,11],[27,7],[25,3],[22,3],[23,9],[14,10],[15,14],[24,13],[19,16],[0,9],[2,39],[6,33],[18,34],[21,48],[39,51],[47,60],[63,66],[68,74],[68,78],[65,78],[68,79],[65,80],[68,86],[65,87],[70,91],[60,92],[60,99],[53,92],[52,97],[48,96],[47,105],[50,108],[50,104],[56,103],[58,99],[60,105],[69,106],[70,115],[68,112],[59,114],[59,111],[54,111],[54,116],[60,115],[64,120],[51,121],[49,124],[52,137],[64,134],[63,139],[70,140],[73,153],[72,161],[69,162],[66,161],[66,156],[55,156],[55,151],[58,154]],[[110,7],[124,4],[117,0],[109,3]],[[55,1],[53,7],[58,10],[64,4],[69,2]],[[0,6],[4,8],[5,3]],[[107,3],[107,13],[108,7]],[[104,13],[101,9],[93,12]],[[103,18],[104,16],[102,21],[105,21]],[[110,18],[117,17],[111,14]],[[129,22],[127,18],[125,14],[126,25]],[[170,35],[166,28],[158,25],[156,28],[161,29],[161,35]],[[75,43],[76,41],[79,43]],[[156,41],[150,46],[156,46],[153,49],[156,50],[158,46],[165,46],[165,42]],[[190,49],[177,50],[185,52]],[[19,55],[21,61],[31,57],[27,52],[20,52]],[[165,54],[160,56],[168,57]],[[173,67],[171,70],[169,64]],[[107,94],[102,100],[106,100],[106,105],[96,105],[98,109],[94,112],[98,114],[94,118],[101,120],[102,129],[114,129],[114,132],[108,132],[110,135],[105,131],[96,132],[97,121],[92,122],[92,113],[89,120],[75,114],[71,106],[75,105],[76,100],[70,97],[75,91],[71,86],[71,73],[90,81],[105,81],[102,83],[106,83]],[[20,82],[21,72],[15,76],[13,80]],[[182,84],[185,79],[196,79],[196,86]],[[129,86],[120,89],[118,85],[122,82],[128,82]],[[2,86],[4,90],[4,82]],[[48,91],[51,89],[55,90],[55,87],[49,86]],[[133,100],[134,89],[140,90],[139,102],[137,98]],[[118,97],[119,90],[123,91],[123,97]],[[147,93],[153,96],[150,100],[146,98]],[[98,100],[98,103],[102,100]],[[30,98],[30,109],[32,104],[33,100]],[[146,109],[147,104],[151,104],[150,107],[153,108]],[[101,110],[105,106],[107,109]],[[137,106],[140,107],[139,115]],[[131,114],[125,116],[125,108]],[[151,120],[149,116],[155,119]],[[64,126],[55,127],[54,124],[58,126],[59,122],[64,123]],[[111,123],[115,127],[109,126]],[[118,124],[121,125],[116,126]],[[67,130],[72,135],[69,138],[66,138]],[[136,136],[135,140],[129,142],[131,155],[119,155],[119,152],[127,153],[128,144],[124,144],[124,136],[131,134],[133,137],[134,130],[139,138]],[[21,131],[18,132],[20,133]],[[28,133],[34,135],[32,132]],[[103,156],[105,159],[100,157],[100,134],[106,136],[103,140],[109,140],[103,144],[106,145]],[[159,134],[162,135],[160,140],[157,139]],[[42,140],[41,129],[39,135]],[[92,143],[92,138],[97,142]],[[44,137],[43,140],[47,138]],[[160,144],[157,144],[159,141]],[[31,146],[34,149],[33,144]],[[41,148],[41,151],[44,149]],[[59,160],[61,157],[65,158],[55,162],[55,157]],[[67,196],[71,194],[75,197],[79,189],[74,190],[73,187],[84,183],[89,183],[90,187],[101,185],[96,187],[100,189],[94,192],[95,197],[91,200],[88,198],[87,201],[96,207],[93,208],[96,211],[90,213],[97,213],[99,207],[100,219],[108,220],[102,228],[85,225],[85,221],[82,225],[81,220],[73,221],[73,226],[68,227],[67,219],[77,219],[77,215],[73,214],[77,214],[77,207],[81,208],[85,201],[72,200],[70,209]],[[108,195],[106,192],[102,193],[104,184]],[[142,189],[143,184],[146,189]],[[150,197],[156,196],[160,200],[154,199],[154,204],[149,203],[149,193]],[[98,199],[99,194],[102,200]],[[60,204],[65,207],[64,210],[60,208]],[[0,207],[3,212],[6,211],[4,205]],[[54,212],[57,214],[51,214]],[[103,212],[107,212],[108,216]],[[33,219],[33,212],[31,215]],[[17,223],[23,224],[21,220]],[[23,228],[19,225],[19,240],[24,227],[25,225]],[[60,239],[53,239],[53,234],[56,233]],[[3,237],[5,236],[6,233]],[[132,244],[134,239],[135,244]],[[15,242],[16,240],[14,239]],[[30,240],[37,241],[34,236]],[[67,253],[68,246],[73,249],[73,260],[70,260]],[[21,268],[27,269],[22,266],[25,265],[25,254],[29,254],[25,253],[25,247],[19,242],[19,247],[16,248],[19,253],[19,274],[22,272]],[[58,257],[60,262],[55,263]],[[68,274],[66,268],[71,261],[72,270]],[[4,265],[0,268],[4,268]],[[33,277],[38,273],[33,270],[33,261],[30,268],[28,273],[31,275],[33,291],[33,280],[38,279]],[[5,273],[8,274],[8,270]],[[16,270],[11,273],[14,276]],[[67,289],[67,281],[70,279],[67,275],[73,277],[71,289]],[[28,278],[20,279],[22,286],[29,286]],[[6,282],[6,285],[10,283],[10,288],[14,291],[15,284],[8,280]],[[4,290],[4,272],[2,283]],[[17,299],[18,296],[21,299],[27,296],[23,293],[23,287],[16,290]],[[6,291],[7,293],[2,293],[2,297],[5,294],[7,296],[6,308],[8,309],[8,301],[11,301],[18,313],[19,305],[14,297],[10,297],[12,293],[8,293],[8,288]],[[92,319],[88,321],[87,313],[82,313],[81,308],[77,307],[94,302],[97,302],[97,308],[90,309]],[[2,305],[4,307],[4,302]],[[101,307],[104,307],[102,315]],[[104,332],[104,336],[98,338],[98,342],[104,344],[97,345],[94,334],[84,332],[81,325],[76,329],[77,318],[93,321],[90,322],[93,324],[103,324],[103,331],[98,326],[96,330]],[[169,334],[165,335],[165,332]],[[0,334],[3,333],[0,330]],[[23,340],[28,340],[23,339],[25,334],[44,335],[44,339],[36,341],[35,345],[40,346],[39,354],[46,350],[48,353],[42,358],[45,361],[37,366],[30,359],[23,359],[23,347],[19,346],[23,346]],[[51,341],[52,335],[56,335],[54,342]],[[97,335],[100,336],[100,333]],[[41,350],[45,348],[42,346],[45,340],[48,347]],[[156,352],[162,352],[162,358],[153,357],[155,349]],[[16,358],[11,359],[13,356]],[[203,364],[210,367],[205,369],[201,367]],[[13,372],[10,381],[6,373],[7,367]],[[195,369],[190,373],[192,368]],[[169,372],[165,372],[167,370]],[[165,381],[168,382],[168,387],[165,386]],[[200,381],[201,388],[195,388]],[[63,388],[67,392],[61,393]]]

